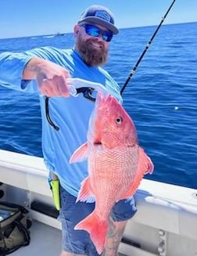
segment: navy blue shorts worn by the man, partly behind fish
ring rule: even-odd
[[[73,254],[84,254],[97,256],[95,245],[91,242],[88,232],[84,230],[74,230],[74,226],[95,208],[95,203],[77,202],[76,197],[73,197],[62,187],[60,188],[60,197],[62,208],[60,210],[59,220],[62,222],[63,233],[63,250]],[[112,218],[116,222],[125,221],[131,218],[137,208],[134,203],[134,198],[120,200],[117,202],[112,211]]]

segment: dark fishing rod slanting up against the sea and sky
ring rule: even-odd
[[[150,45],[151,45],[151,43],[152,43],[152,40],[155,38],[156,33],[159,31],[159,28],[161,27],[163,21],[166,19],[167,14],[170,12],[170,9],[171,9],[172,6],[174,5],[174,2],[175,2],[175,1],[176,1],[176,0],[174,0],[174,1],[171,3],[170,7],[167,9],[167,13],[165,13],[165,15],[163,16],[161,22],[159,23],[159,26],[156,28],[156,31],[154,32],[154,34],[152,34],[152,38],[150,38],[148,44],[145,46],[144,51],[141,53],[141,56],[139,57],[137,63],[135,64],[134,68],[131,70],[131,73],[129,74],[127,80],[125,81],[123,88],[121,88],[121,90],[120,90],[120,94],[121,94],[121,95],[123,94],[124,89],[126,88],[128,82],[131,80],[132,76],[134,75],[135,71],[137,70],[139,63],[141,62],[141,59],[143,58],[143,56],[145,56],[145,52],[147,52],[147,50],[149,49],[149,47],[150,47]]]

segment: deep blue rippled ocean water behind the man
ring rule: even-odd
[[[156,30],[121,29],[106,70],[120,88]],[[197,23],[163,25],[124,90],[124,107],[155,164],[145,178],[197,189]],[[73,34],[0,40],[0,52],[73,47]],[[38,96],[0,86],[0,149],[41,157]]]

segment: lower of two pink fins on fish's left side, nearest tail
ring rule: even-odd
[[[88,202],[88,203],[95,202],[95,196],[91,190],[91,183],[90,183],[89,177],[84,178],[83,182],[81,182],[81,189],[78,193],[76,202],[78,201]]]

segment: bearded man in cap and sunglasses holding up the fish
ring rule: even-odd
[[[121,99],[118,85],[100,67],[106,63],[113,34],[118,32],[109,9],[92,5],[82,13],[74,26],[73,49],[43,47],[0,55],[0,85],[23,92],[40,92],[44,160],[50,171],[49,178],[54,173],[60,182],[61,256],[98,255],[88,233],[73,229],[95,207],[95,203],[75,203],[81,181],[88,175],[87,163],[69,164],[73,151],[86,141],[94,103],[82,94],[77,98],[70,96],[67,78],[98,82],[117,99]],[[46,118],[46,103],[50,118]],[[135,211],[133,198],[116,203],[102,255],[117,255],[127,220]]]

